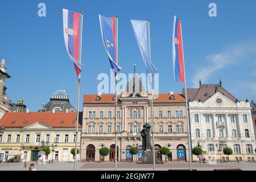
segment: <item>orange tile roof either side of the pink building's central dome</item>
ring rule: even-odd
[[[84,95],[84,104],[102,104],[102,103],[114,103],[113,100],[114,94],[102,94],[100,96],[101,100],[96,101],[97,94],[85,94]],[[121,95],[117,96],[120,98]],[[170,94],[160,93],[157,100],[153,102],[185,102],[185,97],[180,93],[174,93],[174,100],[170,100]]]

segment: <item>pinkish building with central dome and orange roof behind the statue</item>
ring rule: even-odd
[[[153,95],[153,112],[148,94],[134,73],[125,89],[118,94],[117,155],[118,161],[142,160],[142,150],[131,156],[129,149],[142,149],[141,130],[144,123],[154,118],[155,150],[166,146],[171,150],[168,160],[188,160],[187,121],[185,98],[179,93]],[[81,134],[81,160],[114,161],[115,154],[115,98],[114,94],[85,94]],[[100,156],[101,147],[110,154]],[[158,160],[164,157],[158,153]]]

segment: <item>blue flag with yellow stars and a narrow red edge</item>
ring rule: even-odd
[[[116,17],[99,15],[102,41],[108,54],[111,68],[114,75],[121,71],[121,67],[117,64],[117,27]]]

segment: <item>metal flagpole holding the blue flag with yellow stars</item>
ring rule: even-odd
[[[118,16],[115,18],[117,19],[117,26],[115,27],[117,57],[115,63],[118,64]],[[117,73],[115,74],[115,171],[117,171]]]

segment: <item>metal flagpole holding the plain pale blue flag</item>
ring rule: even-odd
[[[147,19],[147,41],[148,41],[148,58],[151,61],[151,48],[150,48],[150,19]],[[152,148],[153,148],[153,171],[155,171],[155,145],[154,145],[154,118],[153,118],[153,97],[152,97],[152,73],[150,77],[150,94],[151,94],[151,122],[152,122]]]

